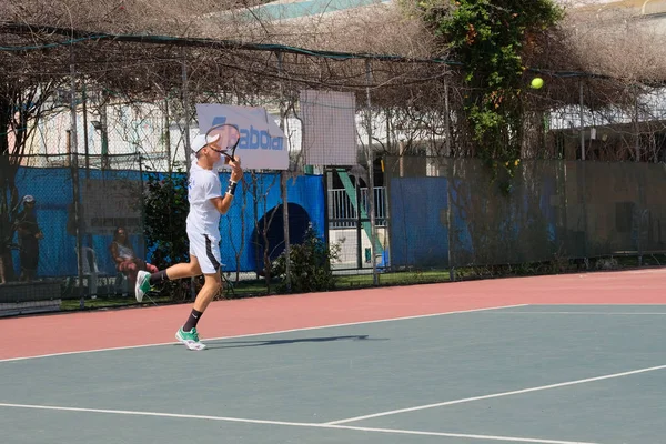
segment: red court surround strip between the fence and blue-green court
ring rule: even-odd
[[[513,304],[664,304],[666,270],[649,269],[393,286],[213,302],[203,337],[233,336]],[[174,342],[191,306],[0,320],[0,360]]]

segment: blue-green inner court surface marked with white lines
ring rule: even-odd
[[[665,321],[519,305],[4,360],[0,441],[664,443]]]

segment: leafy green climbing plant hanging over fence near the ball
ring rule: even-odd
[[[552,0],[422,0],[418,7],[462,63],[476,155],[512,174],[523,135],[524,51],[562,19],[563,9]]]

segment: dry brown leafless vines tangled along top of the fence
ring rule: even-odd
[[[225,95],[239,102],[275,100],[279,91],[294,102],[300,90],[321,89],[353,91],[363,107],[362,54],[374,54],[369,56],[373,108],[421,120],[433,138],[445,127],[447,109],[456,127],[454,152],[474,154],[464,122],[455,118],[466,93],[460,81],[464,67],[446,60],[445,41],[427,30],[411,2],[307,17],[269,13],[256,8],[262,3],[9,0],[0,6],[2,89],[67,84],[73,67],[80,87],[155,101],[180,97],[186,72],[190,103]],[[650,23],[632,9],[571,7],[557,29],[527,36],[525,64],[541,70],[546,87],[525,90],[526,111],[538,115],[583,100],[593,112],[635,114],[645,84],[666,80],[666,50]],[[525,72],[525,84],[534,74]],[[433,115],[438,117],[427,122]]]

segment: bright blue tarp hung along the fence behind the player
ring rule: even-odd
[[[91,170],[91,179],[110,180],[114,174],[123,181],[140,180],[140,173],[137,171],[107,171]],[[81,180],[84,172],[79,173]],[[147,174],[144,174],[145,180]],[[222,183],[229,180],[228,173],[221,173]],[[71,170],[62,169],[37,169],[21,168],[17,174],[17,188],[20,195],[31,194],[37,200],[38,223],[44,239],[40,241],[40,261],[39,276],[68,276],[77,274],[77,250],[75,238],[67,232],[68,208],[73,201]],[[228,214],[221,218],[220,230],[222,234],[222,262],[226,264],[225,271],[236,270],[236,252],[240,251],[239,271],[254,271],[256,264],[254,261],[253,239],[255,233],[255,208],[258,220],[270,212],[274,206],[282,203],[280,193],[280,174],[259,174],[256,190],[250,190],[243,195],[241,188],[236,191],[234,204]],[[258,204],[254,204],[252,195],[258,196]],[[323,238],[324,222],[324,189],[322,176],[304,175],[295,180],[287,181],[287,200],[290,208],[299,205],[306,214],[307,221],[290,221],[292,233],[294,229],[307,226],[312,223],[316,233]],[[274,218],[273,223],[282,226],[282,216]],[[182,228],[183,236],[185,228]],[[276,230],[274,226],[273,230]],[[282,232],[282,230],[276,230]],[[142,233],[131,233],[130,239],[135,251],[143,251],[141,245]],[[297,233],[293,235],[297,239]],[[14,236],[14,242],[16,236]],[[280,240],[279,240],[280,241]],[[110,235],[84,236],[84,245],[92,246],[97,253],[97,260],[100,271],[115,273],[112,260],[109,253]],[[150,262],[150,254],[148,255]],[[13,251],[16,272],[19,272],[18,251]]]

